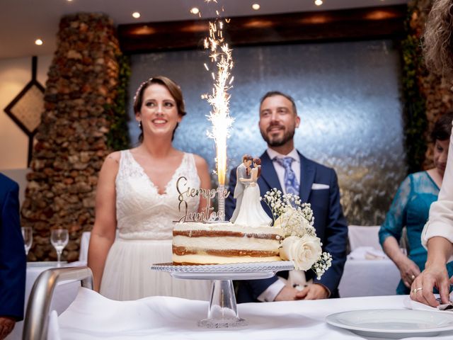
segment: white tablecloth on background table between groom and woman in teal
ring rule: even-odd
[[[390,259],[358,260],[348,257],[338,290],[340,297],[394,295],[399,280],[398,268]]]

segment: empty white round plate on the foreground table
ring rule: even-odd
[[[326,317],[326,322],[363,336],[400,339],[435,336],[453,330],[453,312],[428,310],[352,310]]]

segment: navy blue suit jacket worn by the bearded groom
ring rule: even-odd
[[[300,154],[301,183],[299,196],[302,203],[310,203],[314,215],[314,227],[316,235],[321,239],[323,251],[328,251],[332,257],[332,266],[323,274],[320,280],[316,279],[313,271],[306,272],[306,279],[314,278],[315,283],[321,283],[331,290],[331,297],[338,297],[338,283],[343,275],[343,267],[346,261],[346,244],[348,242],[348,224],[343,216],[340,205],[340,190],[335,170],[307,159]],[[261,176],[258,179],[260,194],[264,196],[266,191],[277,188],[282,191],[280,181],[270,159],[268,152],[261,155]],[[324,184],[312,188],[313,184]],[[229,191],[234,192],[236,186],[236,171],[233,169],[229,177]],[[327,188],[328,186],[328,188]],[[323,187],[323,188],[320,188]],[[236,200],[230,194],[226,198],[226,219],[233,214]],[[263,208],[272,217],[270,209],[265,203]],[[277,275],[287,278],[286,272]],[[256,302],[257,297],[277,280],[276,277],[263,280],[240,281],[237,294],[238,302]]]

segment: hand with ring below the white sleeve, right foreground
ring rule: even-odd
[[[440,305],[432,293],[434,287],[439,290],[442,303],[449,302],[450,280],[445,265],[428,266],[427,264],[425,270],[415,278],[411,285],[411,299],[432,307]]]

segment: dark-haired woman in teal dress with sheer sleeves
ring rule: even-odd
[[[434,168],[410,174],[398,188],[384,224],[379,229],[379,242],[385,253],[394,261],[401,273],[397,294],[409,294],[413,280],[425,268],[427,251],[421,244],[421,232],[437,200],[447,166],[449,136],[453,113],[446,113],[435,123],[431,132],[434,142]],[[401,232],[406,226],[408,256],[399,248]],[[453,262],[447,263],[449,276],[453,275]]]

